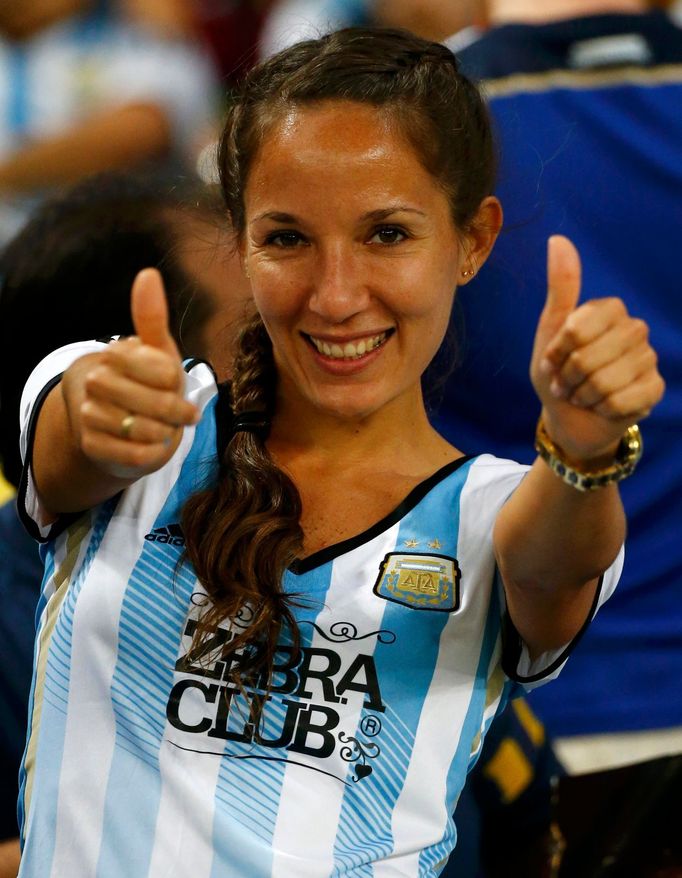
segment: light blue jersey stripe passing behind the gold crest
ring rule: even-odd
[[[457,557],[459,495],[469,467],[470,463],[464,464],[436,484],[403,519],[394,552],[437,551]],[[440,548],[429,548],[429,542],[436,539]],[[415,540],[417,546],[408,545]],[[353,775],[349,775],[351,784],[344,794],[334,849],[334,878],[342,876],[345,870],[359,870],[385,858],[394,849],[393,811],[409,768],[414,737],[436,667],[440,637],[449,619],[449,613],[416,610],[386,601],[381,628],[392,631],[396,640],[377,643],[374,661],[387,710],[379,715],[364,709],[356,732],[360,738],[362,720],[379,716],[382,730],[373,742],[379,744],[382,752],[367,760],[372,767],[368,778],[352,782]],[[372,819],[368,820],[368,815],[373,815]],[[367,874],[371,875],[372,870]]]

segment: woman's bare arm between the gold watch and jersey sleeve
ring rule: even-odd
[[[572,640],[625,537],[617,487],[580,492],[538,459],[498,516],[494,542],[519,634],[540,653]]]

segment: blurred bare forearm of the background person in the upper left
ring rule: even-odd
[[[156,158],[169,145],[170,128],[161,108],[130,104],[88,119],[66,134],[27,144],[0,162],[0,189],[32,191],[70,183]]]

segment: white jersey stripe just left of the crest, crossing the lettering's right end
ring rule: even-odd
[[[384,602],[377,601],[372,586],[378,575],[377,559],[393,551],[400,530],[400,524],[371,540],[355,551],[338,558],[333,565],[331,584],[327,593],[328,606],[334,607],[334,615],[327,608],[316,619],[325,632],[334,623],[362,618],[368,625],[367,631],[359,631],[360,636],[381,628]],[[360,591],[357,582],[367,583]],[[363,641],[362,652],[371,653],[376,647],[375,637]],[[313,647],[332,646],[342,659],[342,670],[357,655],[358,645],[334,643],[315,633]],[[311,686],[319,686],[311,680]],[[316,691],[317,694],[317,691]],[[349,708],[339,705],[343,712],[340,726],[334,730],[338,739],[340,731],[354,735],[365,700],[362,693],[349,693]],[[296,754],[298,762],[319,765],[319,760]],[[345,776],[348,765],[339,756],[339,748],[327,760],[330,770]],[[274,835],[274,859],[272,878],[320,878],[330,875],[334,866],[334,844],[338,831],[339,815],[346,787],[338,780],[318,772],[306,770],[296,765],[287,766],[281,792],[282,802],[295,802],[295,807],[285,808],[278,816]],[[315,815],[314,823],[301,820],[300,815]]]

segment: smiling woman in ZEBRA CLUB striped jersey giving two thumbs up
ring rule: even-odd
[[[443,46],[351,29],[286,50],[220,150],[257,309],[231,387],[183,372],[153,271],[136,337],[30,379],[48,550],[23,876],[442,868],[496,711],[615,586],[616,481],[662,393],[644,325],[578,307],[554,239],[547,461],[430,427],[422,375],[501,224],[491,157]]]

